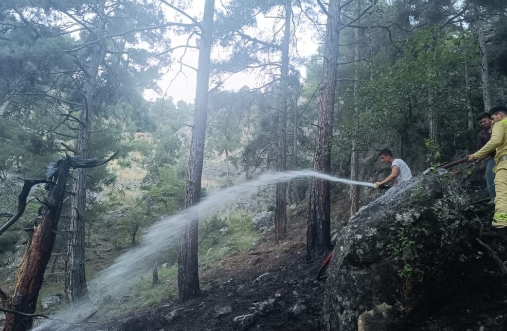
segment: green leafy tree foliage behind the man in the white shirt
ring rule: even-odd
[[[409,164],[422,160],[430,109],[441,125],[437,142],[441,159],[452,158],[456,150],[475,144],[475,137],[463,130],[470,105],[479,107],[475,100],[481,98],[480,72],[474,67],[480,62],[480,53],[473,35],[428,26],[410,33],[399,48],[396,56],[379,51],[368,63],[351,64],[359,80],[356,91],[348,82],[338,86],[343,106],[337,122],[340,134],[335,139],[337,160],[349,159],[353,138],[359,150],[387,145]],[[469,76],[475,78],[469,78],[470,91],[463,83],[464,62],[470,68]],[[340,75],[353,76],[350,69],[340,68]],[[359,112],[358,126],[354,109]]]

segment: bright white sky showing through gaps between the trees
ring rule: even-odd
[[[195,0],[191,3],[192,8],[187,9],[186,11],[191,13],[192,16],[197,17],[198,21],[202,20],[202,10],[204,9],[204,0]],[[224,10],[224,7],[220,1],[216,1],[215,3],[216,10]],[[310,55],[316,53],[319,36],[316,33],[315,28],[309,23],[307,18],[302,17],[299,19],[300,10],[294,8],[294,18],[293,22],[296,22],[298,25],[296,31],[297,37],[297,51],[294,47],[294,44],[291,46],[291,56],[298,56],[299,60],[306,59]],[[174,11],[172,9],[168,9],[168,15],[173,15]],[[283,12],[281,12],[283,14]],[[273,13],[268,13],[265,17],[262,14],[257,16],[258,26],[255,29],[249,29],[247,32],[251,36],[256,36],[262,40],[262,35],[270,35],[272,34],[274,25],[278,27],[283,26],[283,20],[277,20],[275,16],[279,16],[280,13],[278,11],[274,11]],[[179,17],[182,17],[181,15]],[[183,22],[189,22],[188,19],[183,18]],[[282,29],[283,33],[283,29]],[[281,35],[281,34],[280,34]],[[175,47],[177,45],[185,45],[187,42],[187,36],[177,35],[172,33],[169,35],[171,38],[171,45]],[[293,39],[294,40],[294,39]],[[193,37],[190,45],[195,45],[195,37]],[[198,50],[188,48],[184,54],[185,50],[183,48],[179,48],[173,51],[173,64],[170,68],[168,68],[167,73],[164,74],[162,79],[159,81],[159,86],[162,91],[165,91],[167,98],[168,96],[172,96],[174,102],[179,100],[184,100],[189,103],[194,102],[195,98],[195,80],[196,80],[196,72],[185,66],[188,65],[190,67],[197,67],[198,60]],[[183,55],[183,57],[182,57]],[[223,59],[224,56],[227,56],[227,50],[219,49],[218,47],[214,47],[212,50],[212,58],[213,59]],[[182,59],[184,65],[180,65],[178,61]],[[274,59],[273,59],[274,60]],[[279,60],[279,59],[277,59]],[[299,66],[303,77],[305,76],[305,68],[303,66]],[[178,74],[178,71],[180,71]],[[243,86],[248,86],[250,88],[255,88],[261,86],[263,83],[268,81],[268,77],[265,76],[264,73],[260,73],[259,71],[251,71],[251,72],[239,72],[230,76],[223,84],[223,89],[226,90],[239,90]],[[210,88],[214,86],[213,77],[210,77]],[[153,98],[160,97],[161,95],[157,95],[152,90],[148,90],[144,93],[145,97],[149,100]]]

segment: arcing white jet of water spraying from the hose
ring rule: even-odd
[[[210,196],[182,213],[163,217],[160,221],[149,227],[143,236],[141,245],[125,252],[111,266],[100,271],[95,279],[89,282],[88,290],[90,297],[96,302],[107,296],[116,297],[122,291],[138,282],[142,276],[151,272],[156,255],[164,252],[171,244],[174,244],[175,238],[179,238],[182,225],[187,220],[215,213],[224,207],[232,205],[239,199],[247,198],[249,194],[255,193],[261,186],[286,182],[301,177],[317,177],[343,184],[374,187],[372,183],[336,178],[310,170],[299,170],[265,173],[255,180],[210,194]],[[86,317],[91,311],[93,311],[93,307],[88,303],[73,310],[62,311],[55,317],[67,322],[76,322]],[[63,330],[67,327],[68,324],[48,320],[35,327],[34,330]]]

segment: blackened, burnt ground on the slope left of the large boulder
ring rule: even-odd
[[[315,275],[324,257],[306,263],[304,233],[291,234],[280,245],[260,245],[258,255],[242,252],[205,272],[200,297],[136,311],[112,329],[319,330],[323,283]]]

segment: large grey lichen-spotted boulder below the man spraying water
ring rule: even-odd
[[[361,208],[335,235],[324,329],[401,331],[414,309],[424,315],[423,284],[445,260],[447,231],[460,226],[459,201],[444,186],[432,175],[402,183]]]

